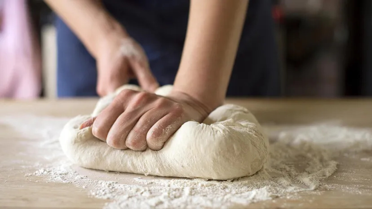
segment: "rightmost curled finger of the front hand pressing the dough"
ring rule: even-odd
[[[153,150],[160,150],[164,143],[176,132],[184,122],[184,111],[180,107],[175,107],[172,111],[158,120],[147,132],[147,146]]]

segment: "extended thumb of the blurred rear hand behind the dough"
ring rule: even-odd
[[[151,73],[148,62],[136,59],[131,59],[129,62],[142,89],[154,92],[159,87],[159,84],[153,73]]]

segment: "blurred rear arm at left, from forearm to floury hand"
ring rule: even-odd
[[[141,45],[132,39],[100,0],[45,0],[78,36],[97,62],[97,93],[104,96],[135,75],[141,87],[154,91],[158,83]],[[128,50],[131,49],[128,53]]]

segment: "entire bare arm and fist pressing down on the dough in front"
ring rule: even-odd
[[[202,122],[221,105],[230,80],[248,0],[191,0],[174,89],[167,97],[123,90],[96,118],[92,133],[111,147],[159,150],[183,123]]]

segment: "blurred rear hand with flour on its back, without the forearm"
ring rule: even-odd
[[[159,86],[150,71],[147,56],[134,39],[125,33],[108,34],[97,49],[97,93],[105,96],[137,78],[142,89],[153,92]]]

